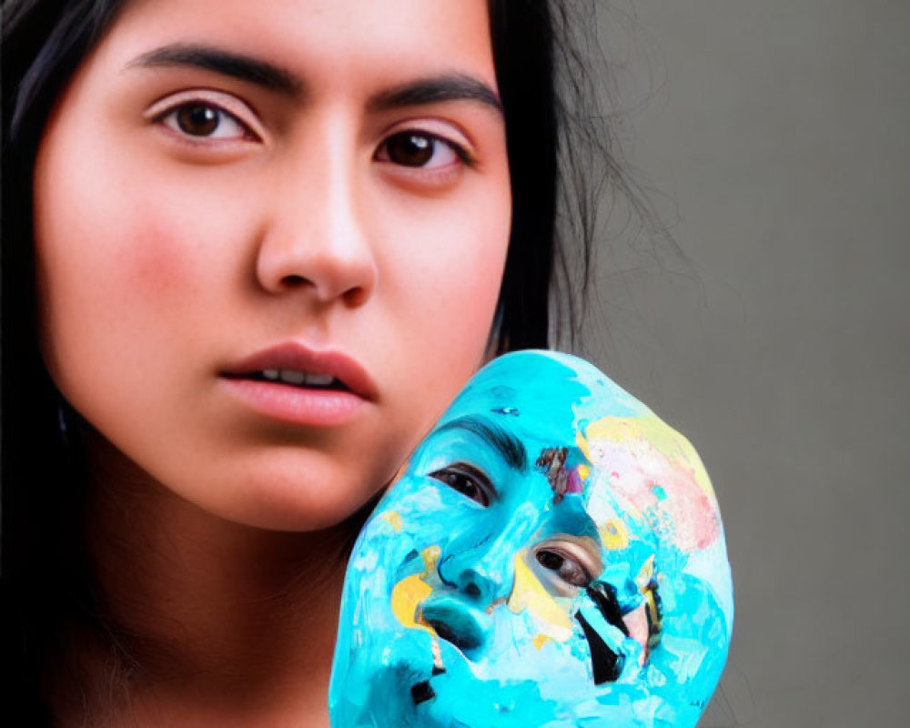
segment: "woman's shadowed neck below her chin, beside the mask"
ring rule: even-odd
[[[290,533],[225,521],[160,486],[112,446],[90,451],[88,556],[102,617],[136,665],[123,692],[135,723],[122,723],[281,725],[287,717],[328,726],[340,594],[357,524]],[[97,653],[86,665],[96,684],[110,682],[104,652],[77,656]]]

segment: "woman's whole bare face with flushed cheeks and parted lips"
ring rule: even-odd
[[[46,365],[154,479],[338,522],[483,358],[511,222],[482,0],[136,0],[35,164]]]

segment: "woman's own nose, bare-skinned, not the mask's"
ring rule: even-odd
[[[297,173],[279,180],[256,263],[259,286],[269,293],[305,290],[319,303],[356,307],[376,286],[356,162],[338,147],[322,147],[294,165]]]

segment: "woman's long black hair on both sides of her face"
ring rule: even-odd
[[[83,469],[74,461],[79,449],[66,442],[79,436],[72,425],[78,415],[47,374],[37,341],[31,179],[57,98],[122,5],[122,0],[6,0],[3,5],[3,650],[12,667],[6,675],[21,681],[6,679],[5,690],[20,704],[31,700],[27,714],[33,716],[41,710],[44,656],[56,650],[61,621],[82,621],[98,632],[105,627],[79,547],[83,489],[78,473]],[[490,332],[490,347],[498,353],[546,348],[562,322],[574,330],[589,280],[595,227],[590,200],[600,192],[602,176],[615,172],[600,126],[585,126],[586,146],[573,141],[567,110],[578,106],[569,96],[585,89],[578,83],[583,63],[571,50],[571,13],[565,5],[489,0],[513,199],[509,251]],[[560,68],[566,75],[561,84]],[[585,158],[584,149],[591,147],[600,156],[599,173]],[[574,206],[566,207],[567,191],[576,196]],[[557,224],[561,208],[568,235],[560,235]],[[553,319],[553,311],[568,315]],[[35,717],[35,723],[39,720]]]

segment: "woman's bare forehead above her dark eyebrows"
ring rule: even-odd
[[[268,56],[324,91],[416,69],[495,82],[483,0],[133,0],[103,45],[123,60],[174,42]]]

